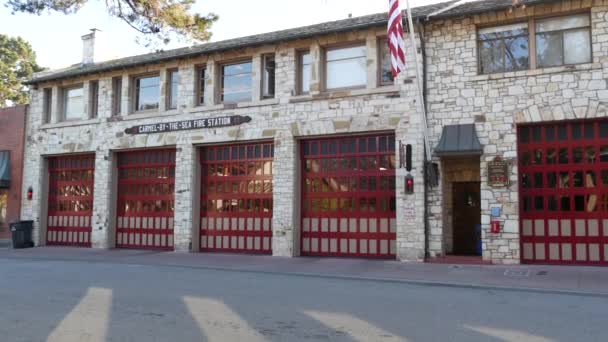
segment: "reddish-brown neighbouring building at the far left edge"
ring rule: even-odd
[[[0,240],[19,220],[26,106],[0,108]]]

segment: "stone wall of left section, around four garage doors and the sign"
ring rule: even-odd
[[[40,84],[31,91],[31,107],[27,119],[27,149],[25,152],[24,186],[34,188],[34,199],[24,204],[22,217],[35,221],[35,239],[45,243],[45,157],[69,153],[95,153],[95,189],[93,205],[93,247],[111,248],[115,245],[115,187],[116,153],[129,149],[174,146],[177,148],[175,184],[175,249],[177,251],[197,250],[198,212],[198,162],[197,146],[213,143],[237,141],[273,140],[275,143],[275,163],[273,164],[273,254],[294,256],[299,254],[299,154],[298,139],[320,135],[344,135],[370,132],[396,132],[396,140],[419,141],[420,119],[413,113],[416,95],[413,64],[402,74],[394,85],[377,86],[377,44],[385,34],[384,28],[353,31],[301,40],[278,46],[229,51],[223,54],[201,56],[188,60],[149,65],[132,70],[109,72],[102,75],[83,76],[55,83]],[[368,49],[368,85],[364,89],[327,92],[322,82],[322,47],[344,42],[365,42]],[[313,56],[311,92],[308,95],[295,94],[296,51],[309,49]],[[413,49],[408,49],[413,51]],[[276,56],[276,97],[261,99],[261,56],[264,53]],[[250,102],[237,105],[218,103],[217,81],[219,64],[223,61],[243,57],[252,58],[254,65],[254,91]],[[411,52],[408,56],[412,57]],[[195,103],[195,74],[198,67],[206,66],[212,75],[206,84],[204,106]],[[167,89],[163,80],[167,70],[178,68],[180,84],[178,88],[178,109],[163,110],[164,94]],[[160,110],[132,113],[133,76],[158,72],[161,78]],[[215,75],[215,76],[214,76]],[[121,110],[112,116],[112,79],[122,78]],[[89,84],[99,80],[98,117],[82,121],[62,122],[57,105],[59,89],[70,84]],[[53,89],[53,109],[51,123],[43,124],[43,89]],[[86,91],[86,89],[85,89]],[[85,92],[86,93],[86,92]],[[413,115],[408,115],[413,113]],[[181,131],[149,135],[128,135],[126,128],[140,124],[171,122],[196,118],[229,115],[247,115],[252,121],[237,127],[207,130]],[[420,144],[417,144],[420,146]],[[416,220],[398,224],[398,257],[421,260],[424,256],[424,230],[422,206],[422,150],[417,150],[415,173],[417,175]],[[401,171],[398,175],[402,176]],[[398,207],[406,198],[403,182],[399,184]],[[42,190],[42,191],[41,191]],[[194,204],[194,205],[193,205]],[[398,210],[398,216],[400,210]],[[412,252],[415,251],[415,252]]]

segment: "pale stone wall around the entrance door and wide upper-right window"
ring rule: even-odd
[[[476,29],[533,16],[588,11],[592,21],[593,62],[575,66],[480,75]],[[483,224],[483,258],[495,263],[519,263],[519,212],[517,176],[518,123],[607,116],[608,1],[563,1],[528,6],[525,10],[499,11],[470,18],[432,22],[426,30],[428,103],[431,144],[436,146],[444,125],[475,123],[484,153],[480,160]],[[511,184],[492,188],[487,183],[487,163],[500,156],[511,162]],[[439,159],[436,159],[439,162]],[[444,162],[444,164],[449,162]],[[445,165],[444,165],[445,167]],[[433,189],[436,201],[443,191]],[[500,207],[500,234],[490,233],[490,208]],[[444,205],[431,210],[431,252],[447,247],[440,229]],[[444,222],[445,224],[445,222]]]

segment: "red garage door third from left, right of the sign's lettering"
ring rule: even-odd
[[[272,253],[272,143],[201,150],[201,250]]]

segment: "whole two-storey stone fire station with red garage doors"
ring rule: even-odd
[[[22,217],[39,244],[606,265],[608,0],[511,3],[413,11],[438,182],[378,14],[36,76]]]

